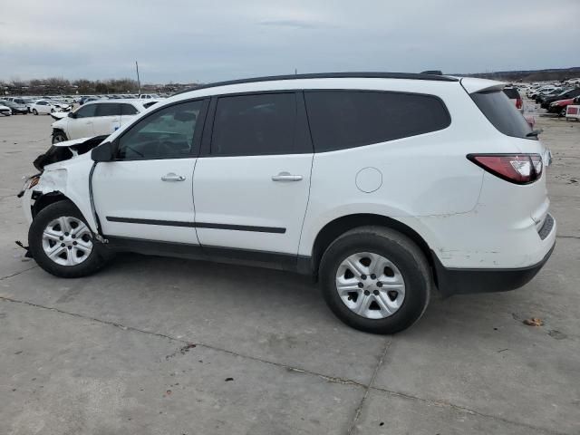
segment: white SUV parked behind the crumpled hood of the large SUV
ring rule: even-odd
[[[87,102],[68,114],[54,113],[53,143],[109,135],[150,107],[150,101],[103,100]]]

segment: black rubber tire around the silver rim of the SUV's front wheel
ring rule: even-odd
[[[105,261],[104,256],[100,252],[104,247],[101,246],[92,237],[92,251],[91,254],[81,264],[75,266],[62,266],[54,263],[43,249],[43,231],[46,226],[55,218],[64,216],[78,218],[87,226],[86,220],[82,217],[81,211],[74,206],[71,201],[62,200],[55,202],[46,208],[43,208],[34,217],[33,223],[28,230],[28,245],[34,257],[34,260],[46,272],[52,275],[61,276],[64,278],[75,278],[85,275],[91,275],[100,269]]]

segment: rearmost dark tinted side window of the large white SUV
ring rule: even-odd
[[[304,92],[316,152],[362,147],[449,126],[439,98],[400,92]]]

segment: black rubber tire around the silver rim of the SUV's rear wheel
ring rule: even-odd
[[[403,239],[402,244],[399,241],[397,238],[393,240],[372,232],[362,232],[338,238],[324,253],[320,267],[324,299],[345,324],[367,333],[397,333],[414,324],[425,311],[430,298],[429,268],[418,247],[410,240],[404,243]],[[367,319],[355,314],[343,303],[336,291],[335,276],[338,266],[347,256],[360,252],[384,256],[401,271],[405,282],[405,298],[401,308],[389,317]]]

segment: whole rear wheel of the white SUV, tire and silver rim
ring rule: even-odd
[[[372,262],[365,266],[365,261],[369,260],[364,257],[366,254],[382,258],[375,263],[379,269],[373,268]],[[344,266],[346,259],[358,257],[361,259],[356,267],[382,273],[382,277],[356,276],[349,266]],[[382,266],[385,264],[381,263],[383,260],[389,262],[389,266]],[[358,227],[338,237],[324,252],[319,277],[324,299],[333,314],[344,324],[366,333],[398,333],[407,329],[420,319],[429,304],[432,279],[427,259],[409,237],[388,227]],[[348,283],[358,280],[361,284],[354,285],[353,292],[343,292],[341,297],[337,289],[339,279],[347,283],[349,289],[353,285]],[[393,285],[401,282],[397,288]],[[362,298],[360,304],[359,297]],[[385,297],[389,297],[390,304]],[[380,301],[381,306],[378,304]],[[347,306],[347,303],[352,306]],[[358,308],[353,308],[357,304]],[[355,311],[364,304],[368,309],[357,314]]]

